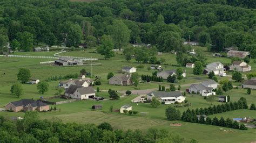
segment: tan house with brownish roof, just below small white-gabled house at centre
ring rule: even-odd
[[[130,75],[114,75],[109,79],[109,84],[112,85],[132,85],[131,76]]]

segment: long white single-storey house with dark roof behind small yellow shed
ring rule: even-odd
[[[164,102],[165,104],[182,103],[186,98],[180,91],[153,91],[147,94],[148,101],[151,101],[153,97],[158,98],[160,102]]]

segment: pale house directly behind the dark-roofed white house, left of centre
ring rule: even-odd
[[[69,88],[70,85],[81,85],[82,87],[89,87],[93,84],[91,78],[83,78],[78,80],[60,81],[59,87]]]

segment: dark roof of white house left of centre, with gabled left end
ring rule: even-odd
[[[66,89],[66,94],[73,94],[76,90],[79,91],[80,94],[93,94],[95,90],[92,87],[83,87],[81,85],[70,85],[68,89]]]

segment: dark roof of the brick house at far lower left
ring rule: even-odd
[[[21,99],[20,101],[11,102],[11,104],[14,104],[16,107],[26,106],[28,104],[31,104],[33,107],[49,105],[49,104],[43,103],[42,101],[34,101],[32,99]]]

